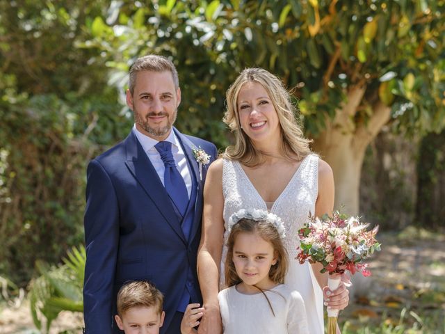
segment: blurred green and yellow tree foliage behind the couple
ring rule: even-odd
[[[366,82],[350,120],[369,122],[374,101],[391,118],[364,156],[360,212],[387,230],[443,228],[444,2],[1,1],[0,276],[23,286],[35,260],[83,241],[86,164],[127,136],[127,72],[148,52],[178,67],[179,129],[219,148],[224,93],[243,67],[296,88],[314,138]],[[388,72],[398,76],[379,80]]]

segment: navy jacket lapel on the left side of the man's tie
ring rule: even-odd
[[[131,174],[133,174],[140,185],[143,186],[145,193],[147,193],[147,196],[154,202],[167,223],[175,230],[182,241],[187,243],[184,232],[182,232],[181,225],[175,214],[175,209],[170,202],[170,198],[168,198],[168,193],[165,191],[156,170],[133,132],[129,134],[125,144],[127,147],[127,161],[125,161],[125,164]]]

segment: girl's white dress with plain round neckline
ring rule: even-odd
[[[243,294],[236,287],[220,291],[224,334],[309,334],[305,303],[300,294],[284,284],[264,292]]]

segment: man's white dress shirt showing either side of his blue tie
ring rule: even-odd
[[[145,134],[140,132],[138,129],[136,129],[136,124],[133,126],[133,132],[134,134],[136,134],[136,138],[138,138],[138,141],[140,145],[142,145],[142,148],[147,154],[148,159],[152,162],[156,173],[158,173],[159,175],[159,179],[161,180],[162,184],[164,184],[165,166],[161,159],[161,154],[159,154],[159,152],[154,147],[154,145],[159,143],[159,141],[156,141],[156,139],[146,136]],[[188,170],[186,155],[184,154],[184,150],[182,150],[179,139],[175,135],[173,129],[164,141],[172,143],[173,159],[175,159],[176,167],[178,168],[179,173],[181,173],[181,176],[186,183],[188,198],[190,198],[190,194],[192,191],[191,174]]]

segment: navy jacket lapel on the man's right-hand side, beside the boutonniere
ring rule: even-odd
[[[197,148],[196,145],[194,145],[190,139],[188,139],[184,134],[181,134],[175,127],[173,128],[175,131],[175,134],[177,138],[179,138],[179,141],[181,142],[182,149],[184,150],[184,153],[186,154],[186,157],[188,159],[188,166],[191,166],[191,169],[193,170],[193,175],[195,175],[195,184],[197,184],[196,189],[196,200],[195,200],[195,207],[193,212],[193,225],[191,228],[190,237],[188,238],[189,241],[192,241],[195,237],[196,231],[200,226],[200,220],[198,220],[198,217],[202,216],[202,187],[203,184],[200,182],[200,170],[199,165],[193,156],[193,148]]]

